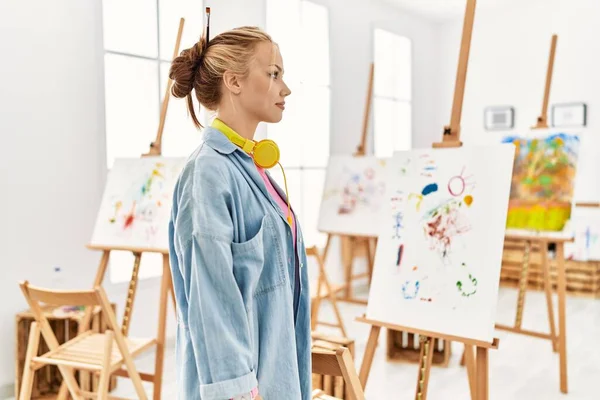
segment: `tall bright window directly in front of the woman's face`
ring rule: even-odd
[[[268,0],[267,31],[279,44],[284,80],[292,90],[283,120],[267,126],[267,137],[281,149],[290,201],[307,245],[324,244],[317,230],[321,193],[329,158],[329,15],[305,0]],[[272,176],[283,187],[281,170]]]

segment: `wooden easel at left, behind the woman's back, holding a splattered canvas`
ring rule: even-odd
[[[181,34],[183,33],[183,25],[185,20],[181,18],[179,20],[179,30],[177,32],[177,41],[175,43],[175,50],[173,52],[173,58],[177,57],[179,54],[179,45],[181,43]],[[162,134],[165,126],[165,118],[167,115],[167,108],[169,104],[169,97],[171,91],[172,81],[169,78],[167,82],[167,87],[165,90],[165,96],[162,102],[161,114],[160,114],[160,122],[158,125],[158,132],[156,134],[156,140],[150,144],[150,150],[146,154],[142,154],[142,157],[149,156],[160,156],[161,155],[161,140]],[[156,358],[155,358],[155,369],[154,374],[148,373],[140,373],[140,376],[143,381],[153,382],[154,383],[154,400],[160,400],[161,398],[161,390],[162,390],[162,375],[163,375],[163,367],[164,367],[164,354],[165,354],[165,337],[166,337],[166,323],[167,323],[167,298],[169,297],[169,292],[171,293],[171,299],[173,301],[173,305],[176,306],[175,303],[175,293],[173,290],[173,281],[171,279],[171,269],[169,263],[169,250],[168,249],[150,249],[150,248],[130,248],[130,247],[104,247],[104,246],[96,246],[96,245],[87,245],[88,249],[91,250],[99,250],[102,251],[102,258],[100,259],[100,265],[98,266],[98,270],[96,272],[96,278],[94,279],[94,287],[102,285],[104,281],[104,277],[106,275],[106,268],[108,267],[108,261],[110,258],[111,251],[130,251],[134,255],[134,263],[133,270],[131,272],[131,279],[129,281],[129,289],[127,290],[127,298],[125,300],[125,310],[123,312],[123,323],[122,323],[122,332],[125,336],[129,333],[129,327],[131,323],[131,317],[133,313],[133,305],[135,301],[135,295],[137,291],[138,284],[138,274],[140,270],[140,262],[143,253],[158,253],[162,254],[163,259],[163,270],[162,270],[162,278],[160,284],[160,297],[159,297],[159,312],[158,312],[158,331],[156,338]],[[91,310],[86,310],[87,312]],[[119,370],[114,373],[117,376],[128,376],[126,370]],[[63,385],[65,386],[65,385]],[[66,386],[65,386],[66,388]],[[62,391],[62,387],[61,387]],[[60,397],[59,397],[60,398]]]

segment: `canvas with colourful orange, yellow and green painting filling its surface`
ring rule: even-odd
[[[516,147],[507,227],[560,231],[571,214],[580,138],[509,136]]]

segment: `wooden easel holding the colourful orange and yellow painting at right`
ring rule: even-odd
[[[552,84],[552,73],[554,70],[554,60],[556,57],[556,44],[558,41],[557,35],[552,35],[550,45],[550,56],[548,60],[548,69],[546,71],[546,85],[544,88],[544,99],[542,101],[542,112],[537,118],[537,124],[532,129],[547,129],[548,128],[548,101],[550,98],[550,87]],[[567,385],[567,331],[566,331],[566,268],[564,258],[564,245],[568,242],[573,242],[572,237],[564,237],[550,232],[544,233],[529,233],[527,231],[519,232],[518,230],[510,230],[505,235],[508,240],[523,241],[525,244],[523,254],[523,265],[521,276],[519,279],[519,293],[517,298],[517,312],[515,323],[513,326],[496,324],[496,329],[504,330],[512,333],[518,333],[527,336],[533,336],[540,339],[550,340],[552,350],[559,353],[560,364],[560,390],[562,393],[568,392]],[[558,295],[558,332],[554,322],[554,306],[552,303],[552,285],[550,283],[550,263],[548,261],[548,245],[556,246],[557,259],[557,295]],[[525,293],[527,291],[527,282],[529,274],[529,258],[532,246],[536,244],[540,248],[541,268],[544,279],[544,291],[546,295],[546,304],[548,309],[548,323],[550,325],[550,333],[541,333],[536,331],[525,330],[521,328],[523,321],[523,308],[525,305]]]

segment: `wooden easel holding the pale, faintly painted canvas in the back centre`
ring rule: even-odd
[[[354,153],[355,157],[362,157],[365,155],[366,148],[366,140],[367,140],[367,131],[369,128],[369,116],[371,112],[371,103],[373,99],[373,78],[375,73],[375,65],[371,63],[369,68],[369,84],[367,89],[367,100],[365,104],[365,113],[363,117],[363,126],[362,126],[362,135],[361,141],[356,148],[356,152]],[[371,283],[371,276],[373,274],[373,261],[374,261],[374,248],[377,244],[376,237],[370,236],[356,236],[356,235],[347,235],[338,232],[325,232],[327,233],[327,244],[325,245],[325,250],[323,252],[323,259],[327,259],[327,254],[329,251],[329,245],[331,243],[331,239],[335,236],[340,238],[340,245],[342,248],[342,265],[344,268],[344,274],[346,277],[346,282],[343,286],[336,287],[336,294],[340,291],[344,291],[344,295],[341,297],[337,297],[339,301],[366,305],[367,301],[364,299],[355,298],[352,295],[352,282],[356,279],[368,278],[369,283]],[[365,254],[367,255],[367,268],[368,272],[358,275],[353,275],[352,266],[354,264],[354,259],[357,256],[357,250],[364,249]]]

